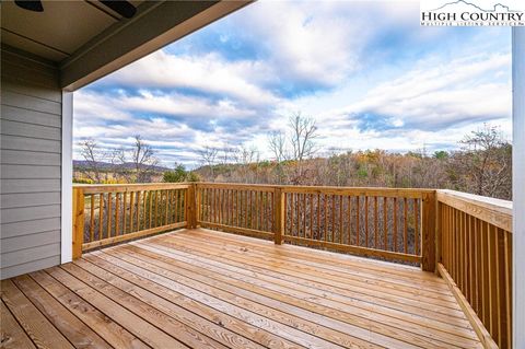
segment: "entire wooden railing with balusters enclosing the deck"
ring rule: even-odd
[[[73,258],[208,228],[420,264],[446,281],[486,347],[512,338],[512,202],[451,190],[243,184],[79,185]]]

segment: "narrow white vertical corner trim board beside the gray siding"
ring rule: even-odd
[[[73,93],[62,91],[60,263],[73,257]]]

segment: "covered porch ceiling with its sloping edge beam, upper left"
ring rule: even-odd
[[[44,0],[44,12],[2,1],[1,42],[60,68],[77,90],[246,5],[250,1],[130,1],[124,19],[100,1]]]

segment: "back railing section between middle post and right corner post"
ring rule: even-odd
[[[427,212],[433,190],[294,186],[282,193],[285,242],[411,263],[424,254],[423,268],[434,269],[428,254],[435,223]]]

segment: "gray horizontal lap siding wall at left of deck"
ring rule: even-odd
[[[60,264],[61,90],[58,70],[2,47],[1,278]]]

